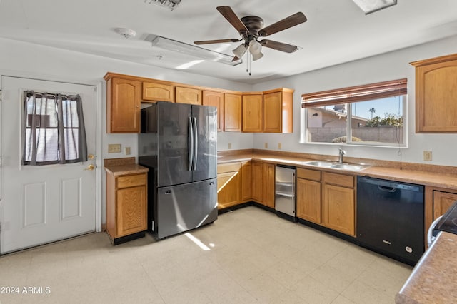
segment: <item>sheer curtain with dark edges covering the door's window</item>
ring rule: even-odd
[[[87,161],[81,96],[24,92],[24,165]]]

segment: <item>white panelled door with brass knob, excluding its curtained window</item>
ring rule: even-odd
[[[96,87],[1,77],[1,253],[33,247],[96,229]],[[87,151],[82,163],[23,166],[22,92],[79,94]]]

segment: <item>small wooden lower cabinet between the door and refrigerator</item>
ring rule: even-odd
[[[106,230],[114,245],[147,229],[147,180],[147,173],[106,173]]]

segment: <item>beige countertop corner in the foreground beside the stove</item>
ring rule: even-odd
[[[457,235],[441,232],[414,267],[403,288],[398,304],[456,303]]]

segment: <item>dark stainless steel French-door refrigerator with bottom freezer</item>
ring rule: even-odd
[[[148,230],[166,238],[217,219],[217,109],[142,104],[139,164],[149,168]]]

